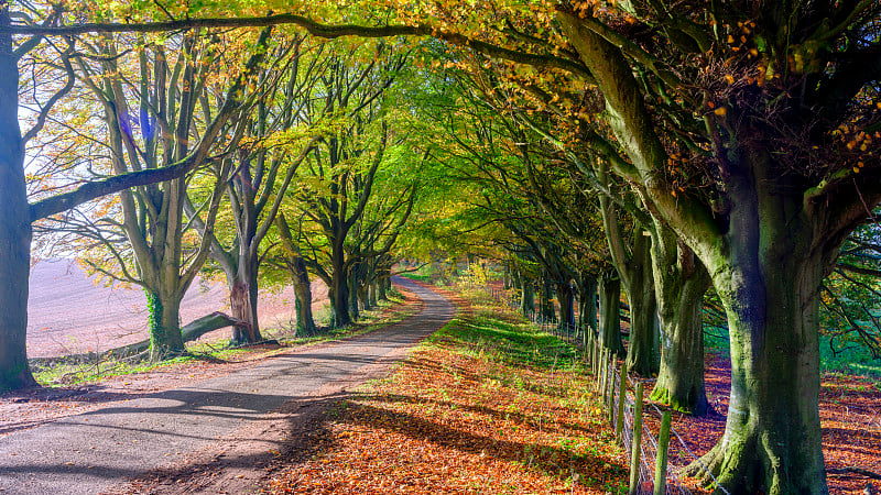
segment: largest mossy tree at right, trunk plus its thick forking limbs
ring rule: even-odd
[[[784,157],[775,154],[779,143],[791,138],[755,113],[765,106],[728,99],[725,114],[706,121],[715,139],[711,162],[720,170],[713,176],[718,198],[707,201],[690,191],[673,197],[657,180],[670,155],[633,61],[591,28],[594,19],[567,11],[557,19],[614,116],[608,122],[628,157],[614,162],[616,170],[641,188],[653,215],[704,262],[726,310],[731,342],[726,429],[689,474],[700,475],[706,465],[729,493],[827,494],[818,407],[819,288],[842,241],[881,200],[874,170],[844,170],[846,180],[826,176],[831,182],[794,173],[813,165],[779,162]],[[788,102],[775,116],[788,119],[786,132],[825,136],[805,128],[805,122],[816,125],[817,119],[805,119],[813,107],[783,91],[775,100]],[[792,102],[797,110],[787,107]]]

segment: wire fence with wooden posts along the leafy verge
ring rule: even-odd
[[[520,301],[511,290],[491,285],[483,285],[481,288],[508,307],[520,307]],[[627,370],[622,372],[623,363],[619,366],[614,356],[602,346],[599,336],[594,329],[577,322],[562,324],[553,318],[543,318],[539,311],[534,310],[525,311],[524,316],[541,331],[567,340],[583,351],[585,360],[594,373],[597,392],[602,397],[602,406],[610,427],[616,431],[630,462],[630,494],[690,495],[692,492],[688,487],[682,484],[679,474],[687,464],[693,462],[703,469],[704,474],[721,493],[728,494],[725,488],[718,486],[713,473],[700,463],[699,457],[692,452],[683,438],[670,426],[670,413],[662,411],[653,404],[650,404],[648,408],[643,407],[642,397],[637,397],[638,394],[642,395],[643,384],[629,376]],[[622,377],[624,377],[623,387],[621,386]],[[661,418],[662,427],[657,436],[642,421],[642,415],[646,413]],[[667,418],[664,418],[665,415]],[[666,432],[664,431],[665,424],[668,428]],[[666,439],[659,442],[660,437],[666,437]],[[634,439],[639,442],[639,455],[633,453],[633,446],[637,443]],[[668,443],[670,439],[673,439],[672,446]],[[659,455],[659,443],[662,443],[662,455]],[[667,462],[668,449],[676,449],[679,452],[681,463],[674,465]],[[662,459],[662,462],[659,462],[659,459]],[[655,476],[659,474],[663,474],[664,479],[660,483],[655,483]]]

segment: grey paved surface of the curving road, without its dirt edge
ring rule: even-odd
[[[0,488],[52,495],[110,491],[235,436],[242,425],[289,400],[309,400],[335,382],[360,380],[359,370],[399,355],[453,317],[454,306],[445,297],[406,279],[396,282],[425,305],[392,327],[10,433],[0,439]]]

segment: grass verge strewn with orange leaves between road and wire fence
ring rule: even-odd
[[[340,399],[267,490],[623,493],[621,449],[578,351],[485,295],[457,302],[391,375]]]

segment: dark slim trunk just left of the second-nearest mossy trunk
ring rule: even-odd
[[[657,339],[657,304],[652,276],[650,239],[638,235],[633,246],[635,263],[630,267],[630,340],[627,346],[627,369],[642,376],[652,376],[661,366]]]

